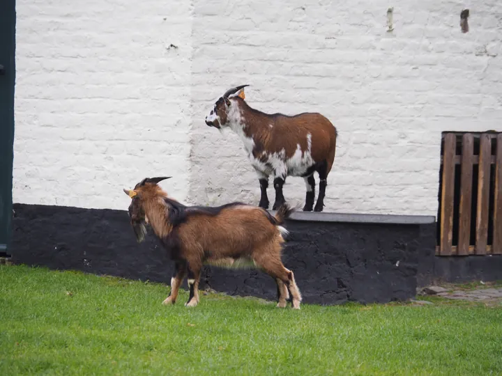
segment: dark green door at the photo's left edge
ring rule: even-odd
[[[6,253],[12,219],[14,142],[15,0],[0,7],[0,253]]]

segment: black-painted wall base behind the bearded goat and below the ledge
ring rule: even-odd
[[[14,263],[163,283],[171,279],[174,265],[167,251],[153,235],[138,244],[126,211],[24,204],[14,210]],[[385,303],[415,296],[417,276],[427,275],[424,265],[434,263],[434,221],[365,222],[374,216],[333,221],[327,214],[296,213],[286,224],[284,265],[294,271],[304,303]],[[205,287],[274,300],[277,295],[273,279],[257,270],[206,267]]]

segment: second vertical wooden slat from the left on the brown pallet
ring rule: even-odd
[[[458,255],[469,254],[471,238],[471,203],[474,138],[471,133],[462,136],[462,175],[460,181]]]

